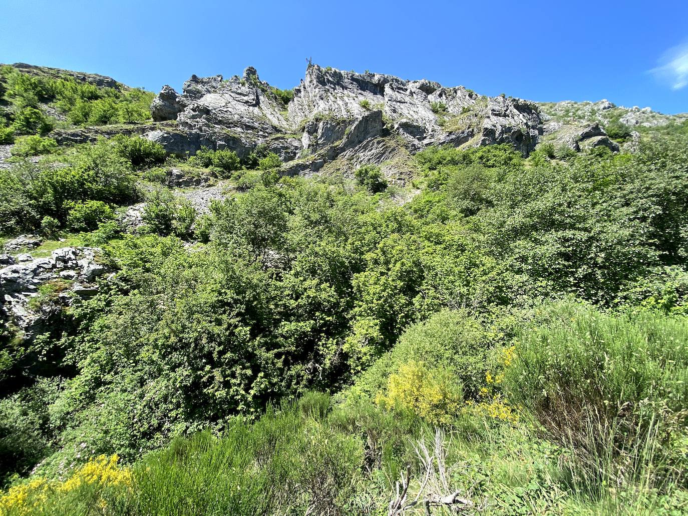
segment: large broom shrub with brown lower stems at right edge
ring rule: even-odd
[[[685,424],[687,342],[685,319],[551,305],[519,335],[504,385],[555,440],[614,460],[648,439],[670,446]]]

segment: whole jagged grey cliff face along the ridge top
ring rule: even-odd
[[[284,173],[319,171],[336,160],[385,168],[436,144],[506,143],[527,154],[543,133],[537,107],[524,100],[318,65],[308,67],[287,105],[249,67],[229,80],[192,76],[182,94],[165,86],[151,114],[156,121],[177,121],[173,129],[145,135],[171,153],[206,146],[242,156],[266,144],[287,162]],[[387,166],[388,175],[393,169]]]

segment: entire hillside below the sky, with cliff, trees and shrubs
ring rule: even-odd
[[[685,116],[17,65],[0,138],[1,515],[688,512]]]

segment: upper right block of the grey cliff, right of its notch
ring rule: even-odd
[[[294,88],[288,106],[292,123],[319,117],[356,120],[371,109],[383,111],[413,147],[433,144],[510,143],[524,153],[541,134],[535,105],[522,100],[482,97],[464,87],[445,88],[429,80],[383,74],[356,74],[313,65]],[[457,133],[460,136],[457,138]]]

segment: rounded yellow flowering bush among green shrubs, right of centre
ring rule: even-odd
[[[462,389],[456,376],[446,369],[429,369],[422,362],[402,364],[389,376],[387,391],[377,402],[409,410],[428,422],[451,421],[461,410]]]

